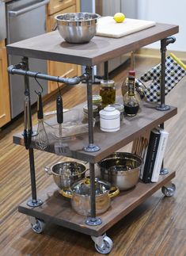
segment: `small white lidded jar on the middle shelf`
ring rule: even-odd
[[[107,106],[100,112],[100,128],[103,132],[116,132],[120,130],[120,111]]]

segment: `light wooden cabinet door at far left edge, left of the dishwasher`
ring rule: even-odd
[[[7,56],[4,41],[0,41],[0,127],[10,120],[9,81],[7,73]]]

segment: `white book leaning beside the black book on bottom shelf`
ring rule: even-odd
[[[169,137],[169,132],[166,132],[165,130],[160,130],[160,135],[161,136],[160,136],[160,142],[158,146],[157,157],[154,162],[154,170],[151,178],[152,182],[158,182],[158,178],[161,170],[161,164],[165,155],[165,147]]]

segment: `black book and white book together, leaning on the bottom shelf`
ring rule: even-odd
[[[146,147],[140,173],[143,182],[158,182],[168,136],[169,132],[162,128],[154,128],[150,132],[149,144]]]

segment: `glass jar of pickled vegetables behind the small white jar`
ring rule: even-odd
[[[102,97],[103,108],[116,101],[116,87],[113,80],[101,80],[100,96]]]

